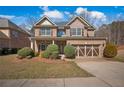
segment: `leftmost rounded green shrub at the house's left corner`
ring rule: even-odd
[[[25,48],[20,49],[17,54],[19,56],[23,57],[23,58],[25,58],[27,56],[32,56],[33,57],[34,56],[34,51],[29,47],[25,47]]]

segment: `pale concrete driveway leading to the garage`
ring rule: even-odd
[[[124,63],[104,59],[78,59],[76,63],[109,86],[124,87]]]

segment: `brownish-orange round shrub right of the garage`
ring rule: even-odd
[[[115,57],[116,55],[117,55],[116,46],[110,43],[106,44],[106,47],[103,52],[103,56],[107,58],[112,58]]]

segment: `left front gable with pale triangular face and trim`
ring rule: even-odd
[[[34,24],[34,25],[39,25],[39,24],[41,24],[41,25],[55,25],[56,26],[56,24],[52,21],[52,20],[50,20],[50,18],[48,18],[47,16],[43,16],[36,24]]]

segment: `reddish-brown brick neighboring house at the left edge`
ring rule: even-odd
[[[19,49],[30,47],[29,33],[8,19],[0,18],[0,48]]]

